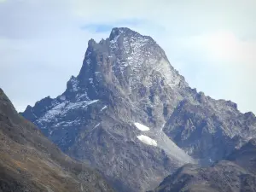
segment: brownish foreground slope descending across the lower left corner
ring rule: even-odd
[[[63,154],[0,89],[0,191],[112,192],[96,171]]]

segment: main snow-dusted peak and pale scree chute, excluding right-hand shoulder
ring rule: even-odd
[[[114,28],[106,40],[89,41],[79,75],[61,96],[22,115],[61,150],[98,167],[118,190],[143,191],[194,161],[162,131],[186,87],[152,38]],[[157,146],[139,139],[145,137]]]

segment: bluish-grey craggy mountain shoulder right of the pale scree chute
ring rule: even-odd
[[[255,138],[256,118],[253,113],[240,113],[233,102],[199,93],[195,100],[177,105],[164,131],[180,148],[209,165]]]

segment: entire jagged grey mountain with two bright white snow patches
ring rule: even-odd
[[[256,137],[253,113],[190,88],[153,38],[129,28],[90,39],[63,94],[21,114],[118,191],[154,189],[178,167],[211,165]]]

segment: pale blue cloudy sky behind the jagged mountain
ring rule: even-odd
[[[254,0],[0,0],[0,87],[18,111],[55,97],[90,38],[149,35],[192,88],[256,113]]]

